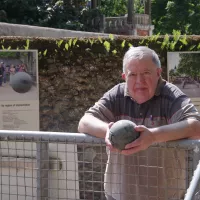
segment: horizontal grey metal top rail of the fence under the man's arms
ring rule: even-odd
[[[44,131],[12,131],[0,130],[0,140],[25,140],[25,141],[43,141],[43,142],[68,142],[68,143],[88,143],[88,144],[103,144],[104,139],[97,138],[84,133],[70,132],[44,132]],[[187,148],[194,149],[200,152],[200,140],[182,139],[170,142],[154,144],[153,146],[168,147],[168,148]]]

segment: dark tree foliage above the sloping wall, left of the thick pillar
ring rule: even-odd
[[[101,0],[96,9],[91,9],[90,3],[91,0],[2,0],[0,21],[95,31],[90,26],[91,19],[102,14],[107,17],[127,14],[128,0]],[[140,0],[134,1],[134,9],[137,13],[144,10]]]

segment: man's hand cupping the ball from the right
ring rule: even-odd
[[[155,142],[155,138],[151,129],[148,129],[143,125],[139,125],[135,127],[135,130],[140,132],[140,137],[126,145],[125,150],[121,152],[124,155],[130,155],[139,151],[143,151]]]

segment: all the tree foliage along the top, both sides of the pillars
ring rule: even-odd
[[[154,34],[200,34],[199,0],[151,0]],[[128,0],[99,0],[100,5],[91,9],[91,0],[1,0],[0,21],[63,28],[98,31],[91,19],[102,14],[119,17],[127,14]],[[134,12],[144,13],[141,0],[134,0]]]

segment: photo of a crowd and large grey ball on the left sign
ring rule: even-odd
[[[37,51],[0,51],[0,101],[37,100]]]

